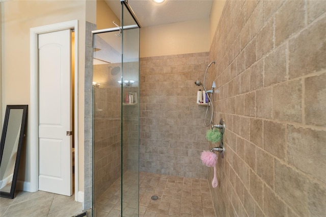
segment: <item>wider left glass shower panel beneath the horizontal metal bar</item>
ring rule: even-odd
[[[122,38],[93,35],[93,216],[121,213]]]

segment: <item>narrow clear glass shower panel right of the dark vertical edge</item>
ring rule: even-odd
[[[140,28],[122,8],[122,216],[139,213],[139,37]]]

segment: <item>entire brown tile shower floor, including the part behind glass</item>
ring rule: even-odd
[[[139,216],[215,216],[207,179],[145,172],[139,178]],[[118,179],[99,197],[96,216],[121,216],[120,183]],[[123,216],[138,216],[137,173],[127,171],[123,185]]]

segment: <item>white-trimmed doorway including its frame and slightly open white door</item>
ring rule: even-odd
[[[74,46],[78,40],[77,26],[78,21],[73,20],[31,29],[31,185],[29,189],[24,189],[30,192],[40,189],[71,196],[74,188],[75,201],[78,201],[77,118],[74,118],[78,111],[78,61],[75,58],[77,46]],[[58,34],[65,35],[60,36],[63,37],[62,41],[51,41],[59,39]],[[51,45],[55,46],[50,50]],[[61,58],[67,60],[66,63],[61,62],[60,56],[67,57]],[[55,65],[51,65],[53,62],[60,65],[56,72],[53,71]],[[61,71],[64,64],[65,72]],[[60,75],[55,76],[57,72]],[[53,107],[57,109],[52,111]],[[64,125],[62,120],[68,120],[67,124]],[[55,129],[49,129],[48,126]],[[55,134],[60,136],[57,138]]]

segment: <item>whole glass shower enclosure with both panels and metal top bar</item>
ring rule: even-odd
[[[93,216],[139,215],[140,25],[93,31]]]

